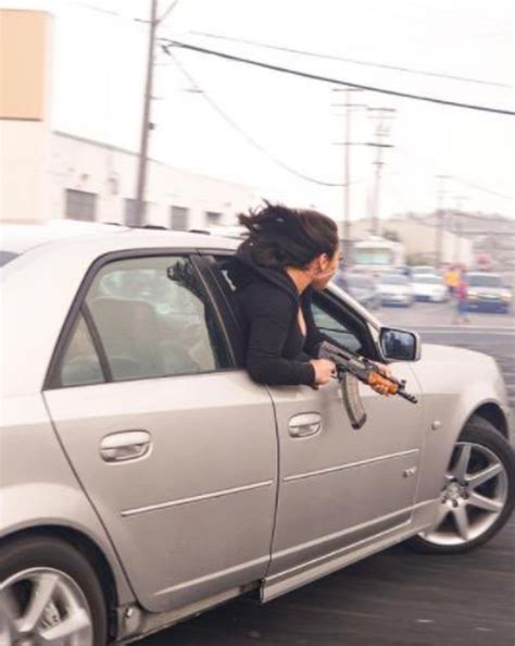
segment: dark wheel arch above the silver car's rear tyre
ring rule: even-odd
[[[111,563],[102,548],[89,536],[65,525],[28,526],[2,536],[0,548],[25,538],[58,538],[79,551],[89,562],[98,576],[102,588],[109,618],[109,635],[115,638],[118,632],[117,613],[118,593],[116,580]]]

